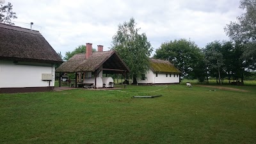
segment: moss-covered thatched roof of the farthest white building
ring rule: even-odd
[[[150,69],[153,72],[168,72],[168,73],[180,73],[180,70],[176,68],[170,61],[159,60],[150,58]]]

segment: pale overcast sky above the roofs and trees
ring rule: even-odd
[[[239,0],[5,0],[17,13],[15,26],[40,31],[64,56],[78,45],[111,47],[118,24],[134,17],[154,49],[163,42],[186,38],[199,47],[228,40],[223,28],[241,15]]]

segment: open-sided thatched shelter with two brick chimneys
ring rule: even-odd
[[[122,74],[127,77],[129,68],[120,56],[115,51],[99,51],[99,46],[102,47],[102,45],[98,45],[98,51],[92,52],[90,56],[86,56],[84,53],[76,54],[56,69],[56,72],[60,73],[59,87],[61,86],[62,73],[75,74],[74,88],[78,86],[104,88],[106,85],[108,87],[109,83],[113,83],[112,78],[109,78],[109,80],[103,77],[104,75],[108,76],[108,74]],[[92,47],[92,44],[86,44],[86,51],[90,51],[90,47]],[[111,82],[106,83],[106,81]],[[72,83],[70,79],[68,79],[68,82]]]

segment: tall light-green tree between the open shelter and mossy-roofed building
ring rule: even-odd
[[[139,34],[140,28],[136,28],[134,18],[129,22],[118,25],[118,31],[113,36],[112,50],[118,52],[125,64],[130,68],[130,77],[133,83],[137,78],[145,74],[149,67],[148,57],[153,51],[145,33]]]

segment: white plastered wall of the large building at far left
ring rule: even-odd
[[[12,61],[0,60],[0,88],[49,86],[49,81],[42,81],[42,74],[52,74],[50,86],[54,86],[54,65],[28,62],[17,65]]]

